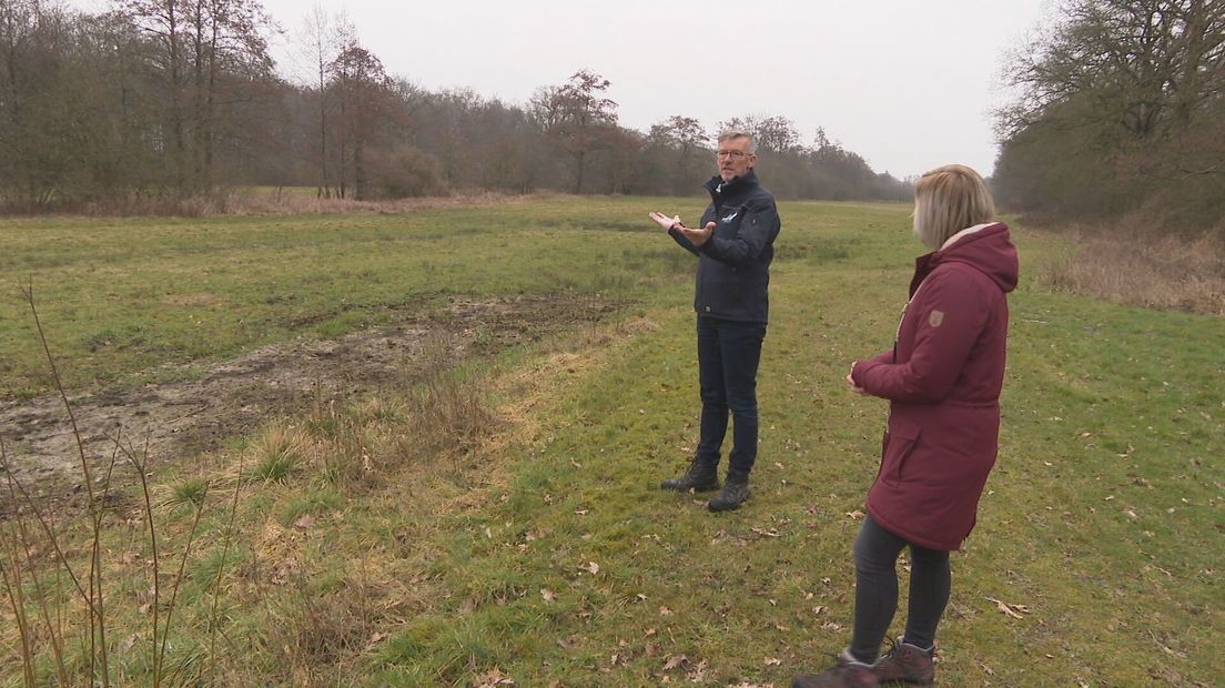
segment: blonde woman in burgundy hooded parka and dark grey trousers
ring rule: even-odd
[[[964,165],[935,169],[915,186],[920,257],[893,349],[856,361],[853,392],[889,400],[881,469],[855,540],[855,629],[850,646],[794,688],[931,683],[936,626],[948,604],[948,553],[974,528],[995,464],[1008,335],[1007,294],[1017,249],[982,178]],[[877,659],[898,604],[895,562],[910,547],[905,634]]]

